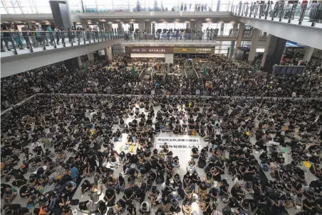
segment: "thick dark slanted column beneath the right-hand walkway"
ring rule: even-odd
[[[267,43],[267,42],[266,42]],[[286,40],[271,35],[269,46],[267,48],[266,60],[264,62],[264,71],[271,72],[274,65],[279,65],[281,62],[281,56],[284,53]],[[266,51],[266,48],[265,48]]]

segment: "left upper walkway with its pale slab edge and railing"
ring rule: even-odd
[[[123,33],[112,31],[1,33],[1,77],[108,48],[124,38]]]

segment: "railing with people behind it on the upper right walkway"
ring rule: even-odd
[[[232,15],[316,26],[322,21],[322,4],[237,4]]]

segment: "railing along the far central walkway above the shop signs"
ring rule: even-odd
[[[125,42],[161,41],[161,42],[215,42],[217,38],[238,37],[239,31],[232,31],[228,35],[218,35],[218,32],[209,33],[125,33]],[[243,38],[251,38],[253,31],[244,30]],[[260,38],[266,38],[265,32],[260,33]]]

